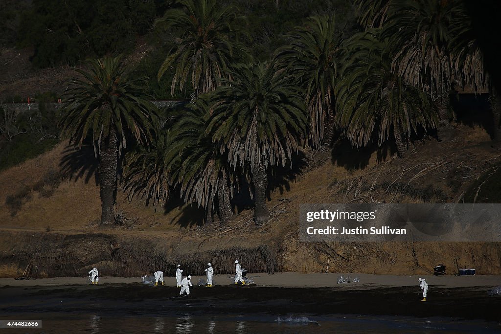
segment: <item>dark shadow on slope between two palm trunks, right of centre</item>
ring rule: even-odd
[[[348,139],[339,139],[332,146],[331,162],[348,171],[364,169],[369,165],[371,156],[376,152],[377,162],[384,161],[396,152],[394,145],[388,143],[381,147],[371,144],[365,147],[353,147]]]

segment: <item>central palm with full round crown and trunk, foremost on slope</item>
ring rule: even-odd
[[[254,220],[270,218],[266,205],[268,168],[291,161],[308,128],[298,87],[272,65],[242,65],[222,80],[213,97],[207,132],[226,151],[233,168],[250,171],[254,186]]]

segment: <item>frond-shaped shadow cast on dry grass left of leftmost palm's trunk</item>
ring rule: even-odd
[[[98,177],[99,159],[94,154],[92,145],[67,146],[63,152],[59,167],[63,175],[78,181],[84,179],[85,183],[94,177],[96,186],[99,185]]]

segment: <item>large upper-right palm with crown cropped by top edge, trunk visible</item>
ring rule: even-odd
[[[440,116],[439,136],[450,129],[449,92],[455,74],[450,28],[458,8],[453,1],[393,0],[384,25],[386,36],[392,37],[397,48],[393,69],[434,100]]]

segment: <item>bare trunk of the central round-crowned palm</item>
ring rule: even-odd
[[[266,187],[268,186],[268,175],[265,165],[260,158],[254,161],[252,170],[252,183],[254,185],[254,222],[262,225],[270,219],[270,210],[266,206]]]

